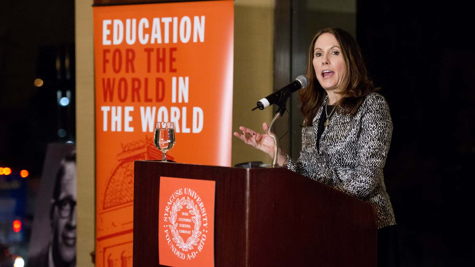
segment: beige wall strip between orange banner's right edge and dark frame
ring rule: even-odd
[[[262,132],[270,124],[272,108],[251,109],[273,90],[274,1],[234,1],[233,131],[243,125]],[[271,163],[268,155],[233,137],[231,164]]]

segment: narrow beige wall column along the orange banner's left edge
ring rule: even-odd
[[[95,133],[92,0],[76,0],[76,266],[94,266]]]

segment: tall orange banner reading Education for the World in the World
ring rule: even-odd
[[[96,266],[132,266],[133,161],[161,159],[154,123],[175,123],[167,158],[231,164],[233,1],[93,10]]]

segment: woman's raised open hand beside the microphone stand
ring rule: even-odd
[[[256,133],[254,130],[240,126],[241,133],[234,132],[234,136],[244,141],[249,145],[257,148],[260,151],[268,154],[271,158],[274,157],[274,139],[269,136],[269,126],[266,123],[262,124],[262,130],[265,134]]]

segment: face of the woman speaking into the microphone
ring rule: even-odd
[[[314,44],[315,75],[318,82],[328,90],[342,90],[346,77],[345,60],[342,48],[331,33],[323,33]]]

